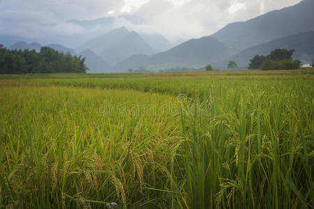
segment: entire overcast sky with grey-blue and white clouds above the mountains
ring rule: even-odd
[[[0,0],[0,35],[40,38],[86,33],[68,20],[116,17],[114,26],[160,33],[172,42],[207,36],[228,23],[249,20],[301,0]],[[141,20],[132,24],[121,19]],[[100,27],[89,29],[101,31]]]

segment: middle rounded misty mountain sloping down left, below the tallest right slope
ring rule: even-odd
[[[226,47],[219,40],[206,36],[191,39],[173,47],[166,52],[152,56],[131,56],[118,63],[117,70],[146,67],[150,69],[162,69],[173,67],[203,67],[208,63],[218,65],[223,58],[228,56]]]

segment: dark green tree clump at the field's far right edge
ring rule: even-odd
[[[274,49],[267,56],[256,55],[251,59],[249,69],[260,70],[296,70],[300,67],[299,60],[292,59],[294,49]]]

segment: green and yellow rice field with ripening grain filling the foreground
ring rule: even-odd
[[[0,76],[0,208],[314,208],[313,70]]]

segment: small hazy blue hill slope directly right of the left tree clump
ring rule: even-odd
[[[79,55],[86,58],[85,64],[89,69],[87,72],[111,72],[109,64],[90,49],[84,50]]]

